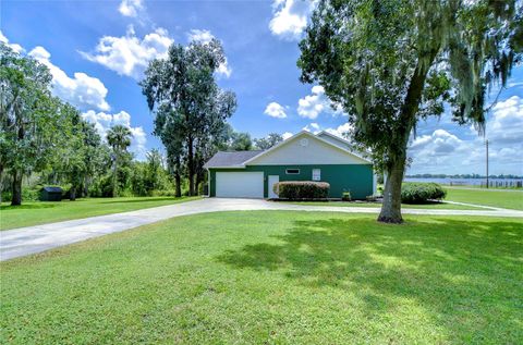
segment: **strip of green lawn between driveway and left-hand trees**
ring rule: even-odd
[[[0,206],[0,230],[60,222],[118,212],[134,211],[197,199],[198,197],[134,197],[134,198],[89,198],[59,202],[27,201],[12,207]]]

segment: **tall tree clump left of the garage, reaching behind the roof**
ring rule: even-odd
[[[248,133],[236,133],[227,123],[236,110],[236,97],[215,78],[224,59],[217,39],[186,47],[174,44],[166,59],[148,64],[139,83],[155,116],[154,134],[166,147],[177,196],[183,177],[188,195],[198,194],[207,175],[204,164],[217,150],[267,149],[282,140],[279,134],[270,134],[253,144]]]

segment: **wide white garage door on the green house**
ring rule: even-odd
[[[216,196],[221,198],[263,198],[263,172],[217,172]]]

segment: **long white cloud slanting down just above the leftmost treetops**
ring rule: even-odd
[[[96,108],[109,110],[106,101],[107,88],[100,79],[75,72],[73,77],[68,76],[60,67],[52,64],[51,54],[44,47],[36,47],[29,56],[45,64],[52,75],[52,93],[64,101],[81,109]]]

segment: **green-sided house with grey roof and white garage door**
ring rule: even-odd
[[[204,167],[210,197],[278,198],[272,186],[280,181],[328,182],[329,198],[351,192],[365,199],[376,192],[372,162],[327,132],[300,132],[265,151],[220,151]]]

